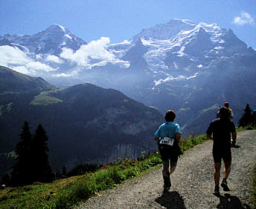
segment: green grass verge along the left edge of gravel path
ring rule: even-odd
[[[205,135],[182,139],[182,151],[206,141]],[[126,179],[161,163],[159,152],[141,159],[125,159],[106,165],[95,173],[72,176],[48,184],[35,183],[25,187],[0,190],[0,208],[69,208],[100,190],[113,188]]]

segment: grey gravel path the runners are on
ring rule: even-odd
[[[240,147],[232,148],[228,177],[231,191],[224,192],[221,188],[220,197],[213,194],[214,162],[212,142],[208,141],[186,151],[179,159],[169,192],[162,192],[161,167],[158,167],[100,192],[77,208],[246,208],[256,163],[256,130],[239,132],[237,145]]]

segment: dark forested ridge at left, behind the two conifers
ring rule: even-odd
[[[6,81],[0,83],[0,160],[15,150],[25,120],[31,133],[39,123],[45,128],[53,170],[137,158],[156,149],[153,133],[163,122],[161,113],[118,90],[93,84],[57,89],[6,67],[0,75]],[[7,83],[10,89],[2,87]]]

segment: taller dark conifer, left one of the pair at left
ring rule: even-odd
[[[16,163],[11,173],[12,185],[29,185],[33,182],[31,173],[31,142],[32,135],[28,122],[24,122],[20,141],[16,145]]]

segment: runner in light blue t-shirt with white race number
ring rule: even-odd
[[[163,162],[162,174],[164,190],[170,189],[170,174],[175,170],[180,154],[178,144],[181,139],[182,131],[179,125],[173,122],[175,117],[176,113],[173,110],[167,110],[164,116],[166,122],[162,124],[155,133],[155,140],[159,144],[159,151]]]

